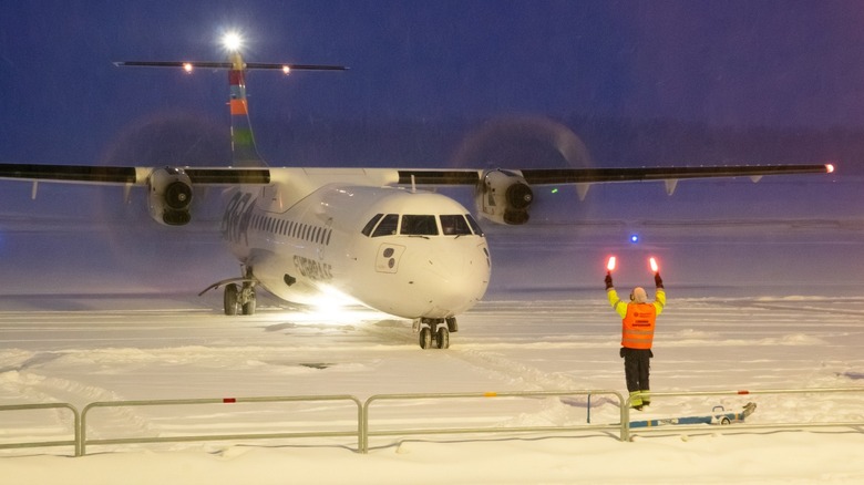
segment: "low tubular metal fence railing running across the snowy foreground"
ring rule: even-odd
[[[805,395],[810,399],[811,395],[824,395],[831,394],[850,394],[858,393],[864,394],[864,386],[861,388],[810,388],[810,389],[773,389],[773,390],[754,390],[754,391],[693,391],[693,392],[651,392],[651,399],[654,401],[660,401],[667,398],[700,398],[700,396],[740,396],[740,395]],[[617,422],[607,422],[595,424],[592,423],[592,399],[595,396],[606,396],[601,400],[604,404],[613,404],[617,407],[616,415],[619,416]],[[471,405],[477,405],[477,410],[485,411],[486,403],[494,400],[494,402],[501,402],[501,400],[518,400],[518,399],[545,399],[545,398],[565,398],[565,396],[585,396],[586,407],[586,423],[585,424],[559,424],[559,425],[486,425],[486,426],[457,426],[453,423],[456,419],[452,420],[448,424],[446,420],[428,420],[424,421],[425,427],[415,426],[400,426],[392,425],[393,420],[373,420],[371,416],[372,410],[380,410],[382,402],[411,402],[415,407],[415,411],[420,412],[422,417],[413,417],[413,422],[420,422],[424,417],[430,415],[434,416],[438,411],[436,406],[441,405],[442,400],[463,400]],[[446,434],[500,434],[500,433],[548,433],[548,434],[563,434],[563,433],[580,433],[580,432],[608,432],[613,435],[617,434],[617,437],[621,441],[629,441],[635,433],[630,422],[630,400],[632,396],[624,398],[616,391],[608,390],[576,390],[576,391],[533,391],[533,392],[465,392],[465,393],[419,393],[419,394],[378,394],[373,395],[364,403],[352,395],[306,395],[306,396],[268,396],[268,398],[217,398],[217,399],[189,399],[189,400],[152,400],[152,401],[114,401],[114,402],[94,402],[88,404],[82,412],[79,412],[75,406],[69,403],[43,403],[43,404],[16,404],[16,405],[2,405],[0,412],[16,412],[16,411],[34,411],[34,410],[65,410],[72,413],[73,417],[73,437],[71,440],[52,440],[52,441],[24,441],[20,443],[2,443],[0,450],[10,448],[35,448],[35,447],[52,447],[52,446],[73,446],[75,456],[83,456],[86,454],[88,446],[94,445],[117,445],[117,444],[142,444],[142,443],[177,443],[177,442],[206,442],[206,441],[249,441],[249,440],[278,440],[278,438],[300,438],[300,437],[353,437],[357,440],[357,451],[359,453],[369,452],[370,437],[384,437],[384,436],[416,436],[416,435],[446,435]],[[184,434],[184,435],[162,435],[162,436],[119,436],[110,438],[89,438],[90,426],[96,421],[95,416],[91,416],[96,409],[120,409],[120,407],[136,407],[136,406],[188,406],[188,405],[225,405],[225,404],[239,404],[239,403],[315,403],[315,402],[341,402],[346,407],[351,410],[356,416],[348,420],[352,423],[344,430],[325,430],[326,426],[332,425],[332,421],[322,420],[320,427],[317,431],[290,431],[290,432],[263,432],[263,433],[230,433],[230,434]],[[796,421],[796,422],[765,422],[758,421],[753,423],[740,422],[734,426],[716,426],[712,432],[718,431],[752,431],[752,430],[802,430],[811,427],[853,427],[864,431],[864,400],[862,402],[862,412],[853,414],[852,419],[836,420],[836,421]],[[582,402],[579,403],[582,404]],[[429,406],[429,409],[426,409]],[[440,409],[440,407],[439,407]],[[466,411],[464,407],[460,407],[461,411]],[[333,410],[328,409],[328,412]],[[389,412],[392,412],[390,410]],[[318,412],[318,411],[313,411]],[[341,411],[340,411],[341,412]],[[229,413],[226,413],[229,414]],[[608,414],[607,414],[608,415]],[[388,417],[388,416],[385,416]],[[356,421],[353,421],[356,420]],[[411,420],[411,419],[409,419]],[[382,422],[387,421],[387,423]],[[400,423],[404,423],[405,420],[395,420]],[[464,421],[464,420],[462,420]],[[660,420],[660,421],[673,421],[673,420]],[[356,423],[356,424],[353,424]],[[432,424],[430,424],[432,423]],[[317,425],[317,423],[316,423]],[[332,427],[332,426],[331,426]],[[676,424],[675,432],[688,432],[693,430],[704,431],[703,424]],[[116,432],[116,430],[113,430]],[[647,433],[668,433],[669,426],[657,427],[638,427],[639,434]],[[121,432],[117,432],[121,433]]]

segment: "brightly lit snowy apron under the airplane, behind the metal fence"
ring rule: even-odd
[[[600,296],[603,291],[599,291]],[[253,317],[225,317],[212,299],[29,297],[3,299],[0,404],[388,393],[617,390],[619,321],[605,298],[582,291],[484,301],[460,319],[449,350],[421,350],[410,321],[364,309],[321,314],[263,301]],[[720,391],[861,385],[864,298],[676,298],[660,318],[652,390]],[[763,396],[752,422],[855,419],[860,395]],[[738,410],[752,398],[669,399],[645,416]],[[798,404],[796,404],[798,403]],[[802,405],[806,403],[806,406]],[[422,405],[420,405],[422,404]],[[494,406],[385,403],[377,414],[407,427],[582,424],[584,398],[502,400]],[[815,412],[814,412],[815,411]],[[350,410],[320,404],[248,412],[112,411],[93,436],[228,433],[272,426],[350,426]],[[226,414],[227,413],[227,414]],[[595,422],[617,406],[593,404]],[[3,416],[3,438],[50,436],[69,416]],[[343,441],[346,445],[351,440]],[[385,445],[388,442],[379,442]],[[194,445],[156,445],[177,448]]]

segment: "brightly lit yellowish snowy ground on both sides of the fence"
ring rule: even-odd
[[[601,291],[598,290],[601,293]],[[855,388],[864,298],[671,298],[656,343],[658,392]],[[615,314],[597,296],[523,295],[461,319],[449,351],[421,351],[408,322],[369,311],[321,318],[266,306],[224,318],[209,300],[3,300],[0,404],[541,390],[623,390]],[[142,309],[146,308],[146,309]],[[66,309],[71,311],[66,311]],[[862,388],[864,391],[864,388]],[[632,419],[758,410],[747,423],[864,421],[862,394],[655,399]],[[573,399],[380,402],[372,426],[585,424]],[[238,407],[244,406],[244,407]],[[206,405],[93,413],[90,438],[350,430],[350,406]],[[618,407],[595,398],[592,422]],[[59,412],[7,413],[2,441],[69,438]],[[732,425],[734,426],[734,424]],[[731,430],[731,427],[730,427]],[[545,437],[548,436],[548,437]],[[265,446],[266,445],[266,446]],[[864,431],[372,437],[91,446],[90,456],[4,457],[10,483],[780,483],[864,479]],[[115,451],[116,453],[105,453]],[[71,453],[70,447],[48,453]],[[32,454],[27,451],[24,454]],[[22,452],[3,452],[21,455]]]

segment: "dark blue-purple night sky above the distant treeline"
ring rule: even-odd
[[[142,120],[226,123],[224,73],[117,60],[336,63],[253,73],[266,120],[505,114],[864,126],[861,1],[16,1],[0,16],[0,158],[99,163]]]

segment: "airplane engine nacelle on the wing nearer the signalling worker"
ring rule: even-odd
[[[475,202],[477,213],[493,223],[520,225],[528,221],[534,192],[522,175],[497,168],[483,174]]]

